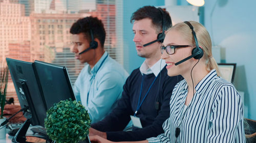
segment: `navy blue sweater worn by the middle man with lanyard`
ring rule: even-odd
[[[155,77],[153,73],[144,75],[141,101]],[[111,141],[145,140],[163,133],[162,124],[169,117],[169,99],[173,88],[181,79],[181,76],[169,77],[164,67],[136,115],[143,128],[133,127],[133,131],[126,132],[122,130],[131,120],[130,115],[134,115],[140,95],[142,74],[139,68],[135,69],[126,79],[117,106],[102,121],[92,124],[91,127],[106,132]],[[159,109],[155,107],[157,101]]]

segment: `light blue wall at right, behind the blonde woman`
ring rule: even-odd
[[[256,1],[205,1],[204,24],[222,61],[237,63],[234,85],[245,92],[245,118],[256,120]]]

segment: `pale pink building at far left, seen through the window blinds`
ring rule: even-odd
[[[0,3],[0,63],[9,55],[9,43],[30,41],[30,19],[25,6],[4,0]]]

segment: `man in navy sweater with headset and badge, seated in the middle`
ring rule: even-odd
[[[172,21],[161,8],[145,6],[133,13],[131,22],[137,53],[145,61],[125,81],[122,97],[112,112],[91,125],[90,136],[138,141],[164,132],[162,124],[169,117],[169,99],[181,80],[181,76],[169,77],[165,61],[160,60],[162,32],[172,26]],[[132,131],[123,131],[131,119]]]

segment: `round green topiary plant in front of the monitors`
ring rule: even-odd
[[[91,119],[80,101],[62,100],[47,111],[46,132],[58,143],[79,142],[86,139]]]

